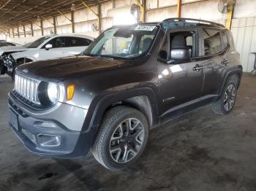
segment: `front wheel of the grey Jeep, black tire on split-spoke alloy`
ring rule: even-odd
[[[123,136],[121,136],[121,138],[118,138],[118,140],[116,140],[116,138],[113,137],[116,135],[116,132],[119,128],[122,128],[124,130],[127,128],[126,122],[127,120],[130,120],[130,119],[138,120],[138,122],[140,122],[138,123],[139,125],[138,124],[135,125],[139,133],[140,133],[140,130],[143,130],[143,133],[140,133],[140,136],[143,134],[143,141],[141,141],[140,147],[136,155],[133,152],[131,152],[131,150],[136,151],[136,149],[133,149],[132,147],[137,144],[134,144],[133,142],[129,142],[125,140],[120,141],[121,139],[124,138],[124,136],[126,136],[126,134],[129,134],[133,130],[128,130],[129,132],[121,130],[121,133],[123,134]],[[129,123],[135,124],[130,121]],[[123,128],[123,124],[124,124],[124,128]],[[132,125],[130,127],[132,127]],[[137,133],[136,130],[135,130],[135,133],[139,134]],[[135,136],[133,136],[133,138],[131,139],[132,140],[138,139],[138,136],[136,136],[136,138]],[[132,134],[130,136],[127,136],[127,140],[129,139],[129,137],[132,137]],[[148,140],[148,122],[146,120],[146,117],[137,109],[133,109],[128,106],[116,106],[113,109],[110,109],[105,114],[105,117],[102,121],[102,124],[99,127],[99,131],[97,133],[96,139],[94,140],[94,144],[91,147],[91,150],[95,159],[100,164],[104,165],[105,168],[108,168],[111,171],[116,171],[123,168],[127,168],[128,165],[135,163],[135,161],[138,160],[140,155],[143,153],[143,150],[146,147],[147,140]],[[115,141],[116,144],[113,145],[113,141]],[[118,150],[118,154],[115,154],[114,152],[111,152],[111,147],[118,147],[118,149],[120,148],[122,149]],[[125,149],[126,152],[123,152],[123,155],[122,155],[123,149]],[[117,157],[116,155],[118,155],[119,157]],[[129,155],[130,155],[130,159],[128,160]],[[124,158],[126,158],[126,156],[127,156],[127,162],[124,162]]]

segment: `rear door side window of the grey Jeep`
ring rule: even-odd
[[[203,29],[205,55],[215,55],[222,51],[220,32],[214,29]]]

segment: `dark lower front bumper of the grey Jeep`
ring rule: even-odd
[[[42,118],[44,115],[40,116],[40,118],[31,116],[29,112],[26,112],[26,109],[18,104],[18,100],[15,100],[12,95],[9,95],[9,108],[10,127],[31,152],[55,158],[82,157],[89,152],[96,134],[94,132],[95,128],[91,128],[87,132],[70,130],[70,127],[63,125],[61,121],[56,119]],[[50,116],[50,114],[48,113],[47,116]],[[69,115],[70,120],[74,117]],[[42,136],[45,136],[44,140],[46,140],[47,144],[42,144]],[[55,141],[59,142],[50,145],[49,143],[54,141],[50,142],[47,139],[54,137],[58,138]],[[45,147],[45,145],[47,146]]]

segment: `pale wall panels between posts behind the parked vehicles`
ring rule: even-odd
[[[146,22],[161,21],[168,17],[176,17],[178,0],[143,0]],[[143,2],[140,0],[140,2]],[[202,20],[211,20],[225,25],[227,14],[218,9],[220,0],[181,0],[181,17],[190,17]],[[230,0],[235,1],[235,0]],[[136,23],[135,16],[131,15],[130,7],[136,0],[110,0],[100,4],[100,7],[93,6],[91,9],[76,9],[74,11],[74,31],[75,34],[85,34],[97,37],[101,31],[113,25]],[[100,8],[100,9],[99,9]],[[96,14],[100,11],[100,21]],[[23,26],[19,28],[10,28],[9,34],[1,34],[0,39],[25,44],[31,42],[39,36],[47,35],[56,31],[56,34],[72,33],[70,24],[71,12],[49,17],[47,19],[39,18],[36,23],[25,23],[26,37]],[[42,29],[40,23],[42,20]],[[56,23],[56,28],[53,28]],[[101,23],[99,27],[98,24]],[[33,28],[33,35],[31,31]],[[255,0],[236,0],[233,9],[233,18],[231,22],[231,31],[238,52],[241,53],[241,63],[244,71],[253,70],[256,52],[256,1]],[[19,31],[19,34],[18,34]],[[13,38],[14,36],[14,38]],[[19,36],[19,38],[18,38]]]

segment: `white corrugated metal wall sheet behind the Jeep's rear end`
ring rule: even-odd
[[[256,52],[256,17],[233,19],[231,31],[244,71],[250,72],[255,62],[252,52]]]

